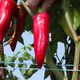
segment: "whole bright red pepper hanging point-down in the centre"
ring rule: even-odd
[[[46,55],[49,36],[49,15],[40,12],[33,16],[34,52],[38,67],[41,68]]]

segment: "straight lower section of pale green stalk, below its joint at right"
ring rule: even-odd
[[[72,80],[78,80],[78,70],[79,67],[79,42],[75,42],[75,55],[74,55],[74,67],[73,67],[73,74],[72,74]]]

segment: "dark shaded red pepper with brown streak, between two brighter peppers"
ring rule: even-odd
[[[15,17],[17,19],[17,24],[14,26],[14,32],[13,32],[11,38],[9,39],[9,44],[10,44],[12,51],[15,50],[17,41],[21,37],[21,34],[24,30],[26,16],[27,16],[27,14],[26,14],[25,10],[20,5],[18,5],[17,6],[17,14],[15,15]]]

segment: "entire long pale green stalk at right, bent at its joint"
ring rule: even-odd
[[[68,0],[63,0],[63,10],[64,10],[64,13],[65,13],[65,19],[66,19],[66,22],[68,24],[68,27],[70,29],[70,32],[72,34],[72,39],[74,40],[74,43],[75,43],[75,55],[74,55],[74,67],[73,67],[73,74],[72,74],[72,80],[77,80],[78,79],[78,66],[79,66],[79,40],[78,40],[78,37],[77,37],[77,34],[76,34],[76,31],[74,30],[74,26],[73,26],[73,23],[72,23],[72,19],[70,17],[70,14],[69,14],[69,1]]]

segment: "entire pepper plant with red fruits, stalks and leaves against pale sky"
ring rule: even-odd
[[[14,0],[0,1],[0,60],[7,61],[7,64],[1,64],[1,66],[4,67],[5,65],[14,68],[16,64],[9,64],[9,61],[15,62],[16,59],[18,59],[19,62],[31,60],[33,64],[37,63],[38,66],[30,65],[29,68],[38,69],[38,67],[41,68],[44,66],[46,69],[44,79],[50,76],[51,80],[79,80],[79,0],[37,0],[37,2],[36,0],[25,0],[24,2],[21,0],[19,5],[16,2],[14,2]],[[24,46],[22,51],[19,51],[12,57],[6,57],[3,53],[2,43],[9,43],[11,49],[14,51],[18,41],[24,45],[23,38],[21,37],[24,31],[32,32],[34,43],[29,46]],[[49,33],[51,34],[50,41]],[[62,65],[62,61],[59,60],[57,55],[55,58],[58,42],[64,44],[65,53],[62,60],[65,59],[66,71],[64,71],[62,66],[59,66]],[[34,48],[36,59],[28,53],[32,48]],[[21,54],[21,56],[18,57],[19,54]],[[57,59],[59,62],[57,62]],[[27,68],[27,66],[23,64],[18,64],[18,67]],[[13,77],[14,80],[19,79],[13,75],[13,71],[3,69],[0,69],[0,71],[2,73],[0,77],[3,79],[7,78],[7,74],[8,79],[11,79],[11,77]],[[37,70],[32,69],[20,71],[25,80],[37,72]]]

